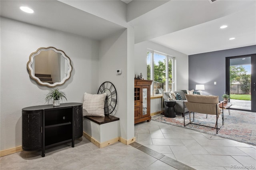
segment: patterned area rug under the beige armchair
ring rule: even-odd
[[[178,127],[184,127],[184,118],[182,115],[176,115],[175,118],[164,117],[164,115],[156,115],[151,118],[152,121],[158,121]],[[191,113],[191,121],[193,120],[193,113]],[[224,126],[216,134],[216,128],[210,128],[215,126],[216,115],[194,113],[194,122],[200,125],[194,125],[189,123],[189,114],[185,114],[185,125],[188,129],[196,130],[223,138],[236,140],[238,142],[244,142],[256,146],[256,113],[247,111],[224,110]],[[218,119],[218,128],[222,125],[221,116]]]

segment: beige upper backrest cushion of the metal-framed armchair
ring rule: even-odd
[[[194,103],[209,103],[209,104],[218,104],[219,97],[218,96],[206,96],[206,95],[188,95],[185,94],[188,102]]]

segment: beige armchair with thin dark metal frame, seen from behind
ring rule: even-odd
[[[185,101],[185,105],[188,108],[189,112],[189,122],[191,124],[195,124],[191,122],[190,113],[193,112],[193,120],[194,120],[194,112],[196,113],[203,113],[208,115],[216,115],[216,133],[220,131],[220,129],[223,127],[224,123],[224,117],[223,117],[223,107],[222,112],[220,110],[220,105],[223,105],[223,102],[219,102],[218,96],[206,96],[206,95],[188,95],[185,94],[187,101]],[[222,114],[222,126],[218,128],[218,118],[219,115]],[[198,125],[198,124],[196,124]],[[185,126],[185,115],[184,115],[184,126]],[[202,125],[204,126],[204,125]],[[208,126],[206,126],[208,127]]]

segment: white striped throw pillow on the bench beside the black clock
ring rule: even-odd
[[[104,117],[106,93],[92,95],[84,93],[83,116]]]

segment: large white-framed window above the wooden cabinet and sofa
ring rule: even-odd
[[[158,95],[164,91],[174,90],[173,57],[148,50],[147,72],[147,79],[153,80],[151,95]]]

